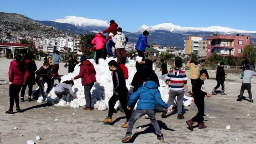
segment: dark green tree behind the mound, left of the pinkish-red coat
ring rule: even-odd
[[[93,47],[93,45],[91,44],[91,40],[92,38],[95,36],[94,33],[88,34],[85,33],[84,35],[80,35],[80,48],[81,48],[81,52],[84,54],[89,54],[90,53],[90,48]]]

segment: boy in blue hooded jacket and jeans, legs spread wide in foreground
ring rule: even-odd
[[[146,78],[146,80],[144,80],[144,85],[139,87],[138,90],[129,98],[127,109],[130,110],[132,104],[137,100],[139,101],[137,103],[136,111],[129,119],[126,135],[121,141],[126,143],[131,139],[134,123],[145,114],[149,116],[150,121],[155,128],[157,139],[164,141],[161,129],[157,123],[157,120],[155,119],[155,107],[156,104],[158,104],[167,110],[171,110],[171,108],[168,107],[168,105],[162,100],[157,83],[151,81],[149,78]]]

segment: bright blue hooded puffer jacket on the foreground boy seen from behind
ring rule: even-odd
[[[137,103],[137,110],[140,109],[155,109],[156,103],[167,109],[168,105],[162,100],[157,83],[148,81],[138,88],[138,90],[131,95],[128,101],[128,107],[131,107],[135,101]]]

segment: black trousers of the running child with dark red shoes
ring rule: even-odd
[[[204,97],[195,97],[198,113],[192,118],[193,122],[204,123]]]

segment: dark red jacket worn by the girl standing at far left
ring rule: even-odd
[[[26,68],[26,71],[20,71],[18,69],[18,62],[16,60],[13,60],[10,62],[10,68],[9,68],[9,82],[12,82],[12,84],[16,85],[23,85],[23,83],[26,83],[27,77],[29,76],[29,71]]]

